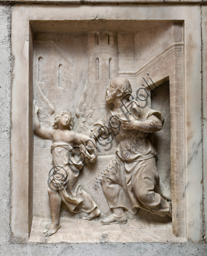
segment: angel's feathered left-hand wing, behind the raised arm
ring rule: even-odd
[[[41,122],[43,127],[50,128],[53,123],[51,115],[54,113],[54,106],[44,96],[37,81],[35,81],[34,86],[34,98],[39,107],[39,121]]]

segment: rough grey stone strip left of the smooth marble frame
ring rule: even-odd
[[[10,48],[11,8],[0,6],[0,237],[7,244],[10,196],[10,88],[12,57]],[[5,245],[4,245],[5,246]]]

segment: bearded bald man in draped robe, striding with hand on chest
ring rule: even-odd
[[[107,175],[101,182],[113,214],[100,220],[101,224],[124,224],[127,222],[124,210],[135,214],[137,208],[160,216],[171,217],[172,214],[171,203],[157,192],[160,191],[157,155],[147,139],[148,133],[161,130],[164,119],[159,111],[130,100],[131,92],[128,79],[113,79],[105,95],[105,101],[113,106],[101,121],[94,124],[92,132],[86,133],[98,138],[101,130],[107,127],[119,142],[114,158],[104,169]],[[115,124],[115,119],[119,125]]]

